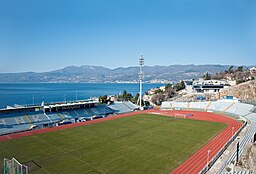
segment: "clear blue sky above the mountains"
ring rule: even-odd
[[[0,72],[256,64],[255,0],[0,0]]]

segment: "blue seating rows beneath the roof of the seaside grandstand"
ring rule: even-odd
[[[0,135],[30,130],[34,127],[51,126],[55,123],[71,120],[90,120],[93,116],[113,114],[114,111],[105,105],[90,108],[70,109],[57,112],[43,111],[12,111],[0,113]]]

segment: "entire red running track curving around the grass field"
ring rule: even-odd
[[[62,129],[83,126],[88,124],[94,124],[94,123],[99,123],[107,120],[114,120],[122,117],[128,117],[128,116],[136,115],[139,113],[145,113],[145,112],[158,113],[166,116],[174,116],[175,113],[179,113],[179,114],[189,113],[189,114],[193,114],[192,117],[187,117],[190,119],[223,122],[228,125],[222,132],[220,132],[216,137],[214,137],[211,141],[209,141],[206,145],[204,145],[199,151],[197,151],[195,154],[190,156],[178,168],[176,168],[173,171],[170,171],[171,174],[199,173],[203,169],[203,167],[207,164],[208,150],[211,150],[210,159],[212,159],[218,153],[218,151],[226,144],[226,142],[232,137],[232,127],[234,127],[234,133],[235,133],[242,126],[241,123],[237,122],[234,119],[231,119],[226,116],[213,114],[213,113],[199,112],[199,111],[184,111],[184,110],[181,110],[181,111],[147,110],[144,112],[139,111],[139,112],[133,112],[128,114],[121,114],[118,116],[106,117],[106,118],[92,120],[88,122],[74,123],[74,124],[68,124],[68,125],[63,125],[59,127],[45,128],[45,129],[32,130],[32,131],[21,132],[16,134],[4,135],[4,136],[0,136],[0,141],[20,138],[25,136],[31,136],[35,134],[41,134],[45,132],[52,132],[55,130],[62,130]]]

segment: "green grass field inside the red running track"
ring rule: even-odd
[[[3,141],[0,173],[4,157],[29,173],[168,173],[225,127],[142,114]]]

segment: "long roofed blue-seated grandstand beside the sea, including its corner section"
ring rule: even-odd
[[[137,108],[131,102],[117,102],[108,107],[92,101],[3,109],[0,110],[0,135],[93,120]]]

